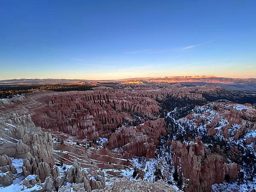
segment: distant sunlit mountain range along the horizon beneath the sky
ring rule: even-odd
[[[225,78],[217,76],[169,76],[169,77],[145,77],[145,78],[128,78],[128,79],[111,79],[111,80],[85,80],[85,79],[9,79],[0,80],[0,85],[12,84],[57,84],[57,83],[77,83],[77,82],[100,82],[100,83],[125,83],[129,84],[138,81],[144,83],[182,83],[188,85],[217,84],[224,88],[241,90],[250,93],[256,93],[256,79],[238,79]]]

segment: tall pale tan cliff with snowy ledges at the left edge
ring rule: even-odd
[[[39,179],[44,180],[51,172],[53,177],[59,174],[54,167],[51,134],[35,127],[30,115],[20,116],[18,113],[12,113],[1,122],[0,129],[0,137],[4,138],[4,142],[0,143],[0,154],[3,154],[0,156],[2,171],[17,173],[8,157],[12,156],[23,158],[22,170],[26,177],[38,175]]]

